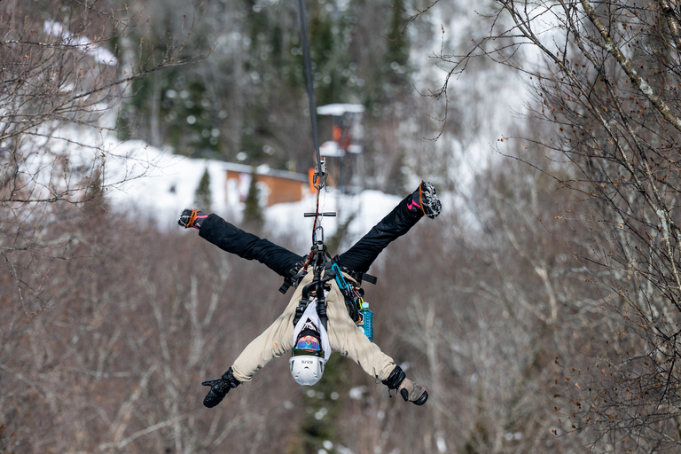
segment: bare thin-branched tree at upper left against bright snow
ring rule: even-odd
[[[187,18],[159,54],[157,43],[145,42],[139,4],[0,6],[0,253],[27,315],[50,303],[40,296],[46,270],[35,268],[35,257],[67,258],[68,244],[79,240],[59,227],[74,215],[65,204],[101,201],[108,187],[153,165],[130,161],[106,137],[115,134],[117,107],[131,82],[203,57],[185,49],[199,17],[197,11]]]

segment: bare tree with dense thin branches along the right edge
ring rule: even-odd
[[[530,117],[550,129],[522,139],[570,162],[568,171],[541,165],[583,198],[577,211],[558,216],[581,237],[566,246],[623,326],[623,340],[599,351],[603,379],[575,397],[563,421],[593,429],[599,450],[677,450],[677,3],[490,4],[489,35],[468,52],[438,56],[450,70],[434,96],[446,98],[451,77],[476,56],[525,74],[536,89]]]

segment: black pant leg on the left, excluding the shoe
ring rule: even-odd
[[[215,214],[208,215],[201,223],[199,235],[223,251],[261,262],[284,278],[292,277],[296,265],[305,260],[305,257],[294,254],[286,247],[280,247],[269,239],[242,231]]]

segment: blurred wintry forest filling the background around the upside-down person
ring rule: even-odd
[[[313,387],[279,358],[206,409],[291,293],[108,199],[154,166],[114,139],[314,166],[296,2],[5,0],[0,453],[677,452],[681,5],[305,6],[317,106],[364,106],[348,182],[442,198],[364,286],[427,403],[334,354]]]

